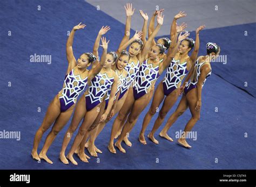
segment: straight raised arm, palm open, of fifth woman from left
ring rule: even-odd
[[[146,44],[144,44],[144,46],[143,46],[142,52],[139,54],[138,59],[139,59],[139,63],[140,64],[145,60],[147,52],[149,52],[151,43],[152,43],[154,37],[156,37],[157,33],[159,32],[160,27],[163,25],[163,22],[164,22],[164,15],[162,15],[162,13],[158,13],[158,16],[157,16],[157,23],[158,24],[156,26],[156,29],[150,35],[150,37],[147,40]]]

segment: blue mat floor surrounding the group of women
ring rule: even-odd
[[[38,5],[41,11],[37,10]],[[0,169],[255,169],[255,23],[201,31],[199,54],[205,54],[206,42],[216,42],[221,47],[221,54],[227,55],[227,63],[212,63],[213,73],[203,89],[201,118],[193,128],[197,131],[197,140],[188,140],[191,149],[177,145],[175,138],[175,132],[183,130],[190,119],[189,110],[169,132],[174,142],[157,135],[163,128],[161,126],[156,133],[159,145],[148,139],[146,146],[139,143],[138,134],[149,105],[130,134],[132,147],[124,146],[126,154],[117,151],[113,155],[107,150],[112,119],[96,140],[96,146],[103,151],[99,160],[92,158],[86,164],[75,156],[78,166],[65,166],[58,160],[58,155],[70,122],[49,149],[48,156],[54,164],[37,163],[30,153],[45,111],[62,89],[68,67],[65,55],[67,32],[80,21],[87,25],[75,34],[73,51],[78,58],[80,54],[92,51],[102,25],[111,26],[106,37],[110,39],[109,51],[116,51],[124,25],[84,1],[21,3],[5,0],[0,2],[0,7],[0,131],[21,131],[20,141],[0,139]],[[244,30],[249,33],[247,37]],[[9,31],[11,36],[8,36]],[[194,33],[191,35],[194,38]],[[51,64],[31,63],[30,55],[35,53],[51,55]],[[157,84],[163,77],[164,73]],[[248,87],[244,87],[244,82]],[[11,87],[8,87],[10,83]],[[167,117],[177,105],[178,102]],[[215,112],[216,107],[218,112]],[[152,118],[146,134],[156,118],[157,115]],[[164,124],[166,121],[167,118]],[[49,131],[44,134],[39,150]],[[216,159],[218,163],[215,163]]]

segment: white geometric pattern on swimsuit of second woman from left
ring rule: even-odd
[[[106,92],[111,89],[113,80],[114,77],[109,78],[106,73],[99,73],[91,81],[91,85],[88,87],[89,94],[86,97],[90,97],[91,103],[101,102]]]

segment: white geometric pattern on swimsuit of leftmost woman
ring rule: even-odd
[[[64,84],[65,88],[62,89],[62,96],[59,98],[63,98],[65,105],[76,103],[77,97],[87,85],[87,77],[82,79],[80,75],[75,75],[74,69],[72,69],[70,73],[66,75]]]

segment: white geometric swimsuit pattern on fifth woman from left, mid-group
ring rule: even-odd
[[[148,64],[147,59],[140,66],[139,74],[136,77],[136,83],[134,88],[137,93],[147,93],[147,90],[151,87],[152,81],[157,80],[159,77],[159,66],[153,67],[153,63]],[[145,84],[146,83],[146,84]]]

